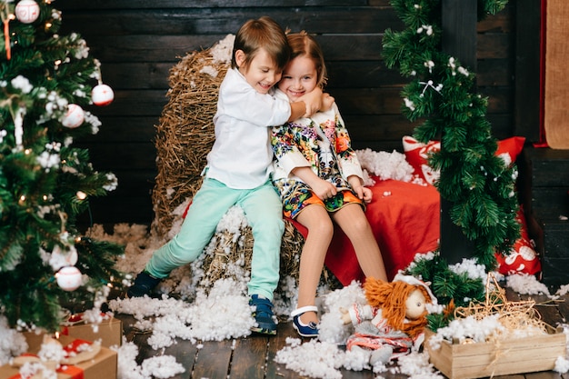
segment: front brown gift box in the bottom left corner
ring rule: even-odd
[[[73,351],[80,344],[92,344],[69,335],[60,335],[59,342],[67,351]],[[43,339],[42,339],[43,341]],[[41,349],[42,342],[30,345],[26,356],[35,356]],[[99,352],[92,359],[77,364],[62,364],[57,369],[57,379],[116,379],[117,354],[113,350],[101,346]],[[0,378],[21,379],[19,368],[11,364],[0,366]]]

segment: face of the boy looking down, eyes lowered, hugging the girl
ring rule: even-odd
[[[283,74],[265,49],[259,49],[246,67],[245,53],[242,50],[235,52],[235,61],[239,67],[239,72],[245,76],[247,83],[255,88],[259,94],[267,94]]]

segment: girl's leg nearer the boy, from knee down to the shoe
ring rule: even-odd
[[[300,255],[297,307],[301,308],[315,303],[316,288],[320,282],[324,258],[334,234],[334,224],[332,224],[330,215],[324,207],[315,204],[304,208],[296,216],[296,221],[308,229],[308,235]],[[311,321],[318,323],[318,317],[314,312],[302,314],[300,320],[304,324]]]

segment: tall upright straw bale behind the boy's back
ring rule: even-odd
[[[155,126],[155,234],[164,235],[170,230],[175,208],[201,185],[205,157],[215,140],[217,91],[228,66],[216,62],[207,49],[186,55],[170,70],[169,101]],[[217,75],[208,74],[212,68]]]

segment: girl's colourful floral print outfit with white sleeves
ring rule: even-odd
[[[347,182],[351,175],[362,179],[363,173],[335,104],[330,110],[318,112],[312,118],[303,117],[275,126],[271,144],[276,156],[273,183],[283,200],[285,216],[294,218],[308,204],[324,203],[329,212],[348,203],[364,206]],[[334,184],[338,194],[323,202],[292,173],[296,167],[310,167],[315,175]]]

